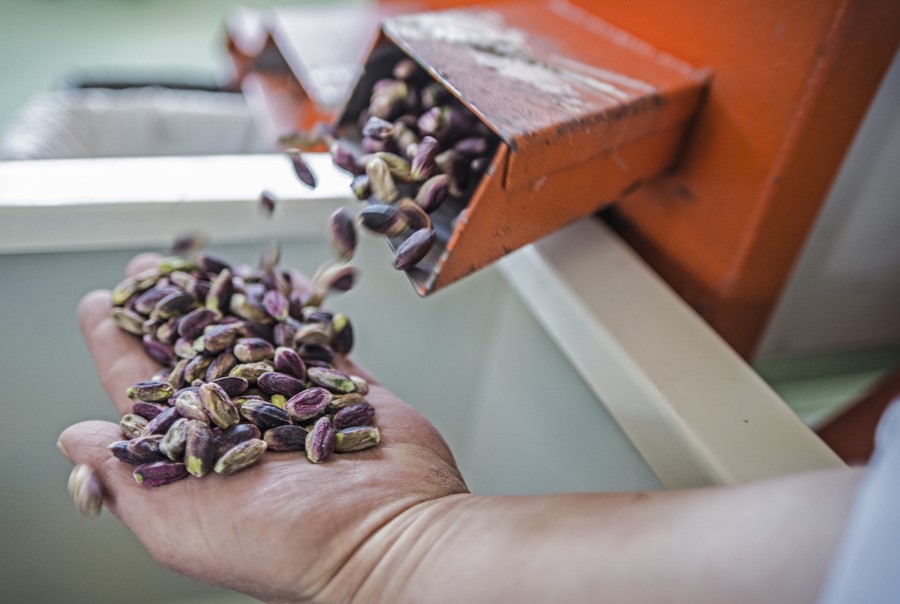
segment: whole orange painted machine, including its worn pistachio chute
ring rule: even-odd
[[[503,141],[468,220],[414,277],[418,291],[613,204],[607,218],[627,241],[752,355],[897,52],[896,2],[494,2],[455,13],[475,20],[455,39],[441,13],[401,16],[468,4],[354,8],[375,11],[358,13],[369,15],[366,46],[313,43],[352,46],[360,65],[386,46],[412,56]],[[393,19],[373,47],[378,11]],[[498,31],[517,33],[510,42]],[[603,85],[622,94],[604,96]]]

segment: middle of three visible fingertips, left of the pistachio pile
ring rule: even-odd
[[[131,409],[125,395],[128,386],[147,379],[160,366],[146,355],[140,340],[119,329],[110,316],[111,308],[109,292],[91,292],[78,305],[78,324],[100,383],[119,413],[127,413]]]

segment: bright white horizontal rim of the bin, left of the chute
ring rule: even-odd
[[[282,155],[0,163],[0,254],[168,246],[192,232],[230,243],[322,235],[351,199],[349,177],[323,154],[311,190]],[[273,217],[259,204],[278,198]]]

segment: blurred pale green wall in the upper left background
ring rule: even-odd
[[[224,17],[236,6],[309,0],[0,0],[0,129],[73,72],[224,73]]]

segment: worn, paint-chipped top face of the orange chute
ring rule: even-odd
[[[510,185],[684,121],[707,75],[543,3],[404,15],[384,33],[510,145]]]

